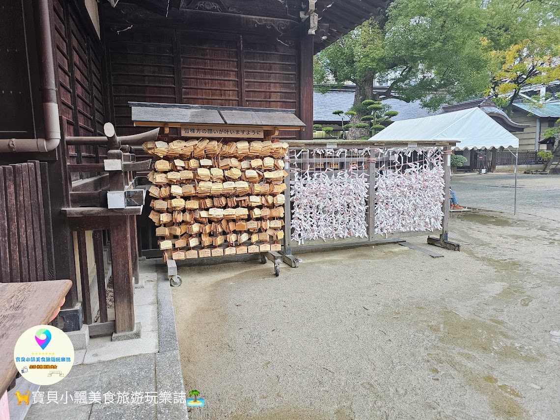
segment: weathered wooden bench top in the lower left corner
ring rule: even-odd
[[[17,374],[17,339],[32,326],[48,324],[71,286],[69,280],[0,283],[0,396]]]

